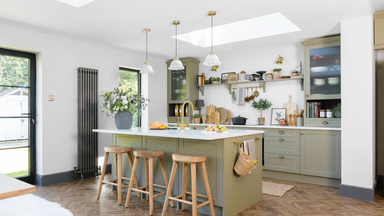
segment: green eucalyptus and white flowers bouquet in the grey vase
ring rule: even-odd
[[[142,95],[136,93],[132,88],[114,88],[113,91],[107,91],[100,97],[104,98],[103,106],[106,111],[102,110],[101,115],[112,116],[118,111],[129,111],[131,113],[137,113],[141,116],[141,111],[145,110],[149,102],[148,98],[144,98]],[[113,116],[112,116],[113,117]]]

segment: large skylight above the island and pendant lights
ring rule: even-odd
[[[281,13],[251,18],[213,28],[213,45],[233,43],[254,38],[268,37],[289,32],[301,31]],[[175,38],[175,36],[172,36]],[[177,39],[199,47],[211,46],[211,28],[177,35]]]

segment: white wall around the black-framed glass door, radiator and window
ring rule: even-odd
[[[37,53],[37,174],[71,170],[77,166],[76,68],[99,70],[101,94],[101,91],[119,85],[119,65],[140,68],[145,56],[5,25],[0,25],[0,32],[0,47]],[[147,118],[148,121],[165,120],[166,88],[158,87],[166,83],[165,60],[149,58],[148,61],[156,73],[148,76],[147,86],[156,88],[156,91],[143,85],[143,92],[149,92],[148,98],[151,99]],[[48,101],[48,95],[55,95],[55,101]],[[99,116],[99,128],[108,127],[115,127],[114,119]],[[111,140],[111,135],[99,135],[99,156],[104,156],[103,146],[111,145]]]

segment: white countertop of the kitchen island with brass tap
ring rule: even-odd
[[[202,133],[201,130],[149,130],[149,128],[131,128],[128,130],[119,130],[116,128],[94,129],[99,133],[118,133],[141,136],[161,136],[175,137],[197,140],[217,140],[236,136],[246,136],[264,133],[263,130],[228,130],[228,133]]]

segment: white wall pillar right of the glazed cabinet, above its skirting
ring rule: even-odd
[[[371,16],[341,22],[341,183],[363,188],[376,178],[376,55]]]

